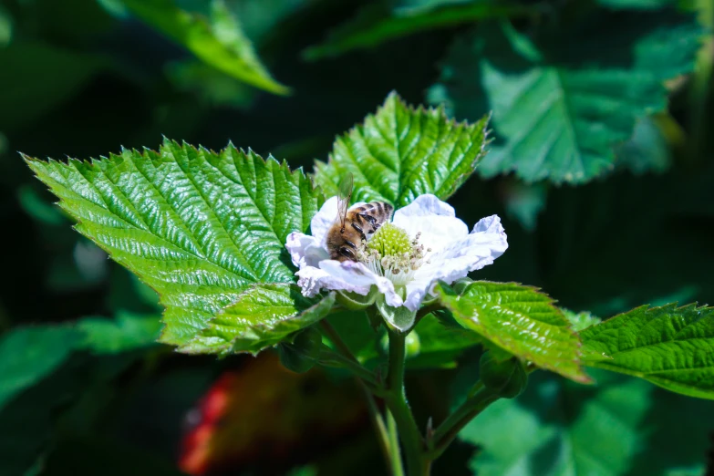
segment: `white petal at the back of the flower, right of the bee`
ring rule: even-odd
[[[456,218],[454,209],[431,194],[419,195],[414,202],[394,213],[393,223],[410,237],[421,233],[419,243],[439,252],[448,243],[469,234],[466,223]]]

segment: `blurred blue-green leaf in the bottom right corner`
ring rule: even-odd
[[[522,397],[492,404],[459,434],[481,448],[471,460],[474,473],[703,473],[714,407],[642,380],[596,377],[597,387],[583,387],[534,374]]]

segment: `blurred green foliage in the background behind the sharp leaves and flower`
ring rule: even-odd
[[[714,303],[709,0],[365,4],[0,1],[0,474],[181,473],[191,408],[223,370],[250,361],[152,345],[157,295],[71,230],[17,151],[88,159],[157,149],[163,135],[213,150],[232,140],[312,171],[396,90],[460,120],[492,111],[481,178],[450,199],[465,222],[503,217],[510,248],[479,279],[538,285],[604,319]],[[289,96],[271,94],[283,84]],[[352,317],[330,321],[379,366],[378,338]],[[408,361],[456,367],[412,374],[420,425],[478,373],[478,339],[444,321],[419,324]],[[523,396],[462,431],[434,473],[711,471],[709,401],[594,377],[582,387],[533,374]],[[275,387],[261,385],[246,391]],[[369,431],[345,429],[332,458],[308,446],[263,472],[222,471],[383,473]]]

